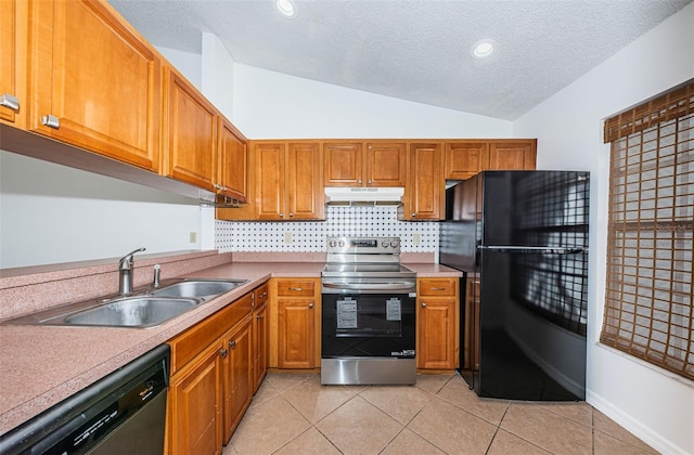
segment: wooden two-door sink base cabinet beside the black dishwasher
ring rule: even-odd
[[[167,454],[220,454],[253,400],[254,292],[169,340]]]

